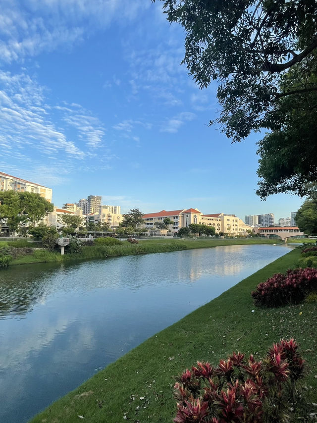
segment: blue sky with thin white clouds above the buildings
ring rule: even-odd
[[[296,211],[297,196],[256,196],[253,134],[240,144],[208,123],[180,62],[184,32],[151,0],[2,0],[0,170],[122,211]]]

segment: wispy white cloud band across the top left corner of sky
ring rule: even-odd
[[[113,21],[126,25],[150,6],[144,0],[2,0],[0,60],[73,46]]]

